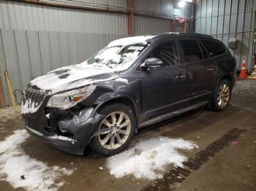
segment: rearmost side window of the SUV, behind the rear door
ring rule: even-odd
[[[225,47],[223,47],[223,45],[220,44],[219,42],[208,41],[208,40],[203,40],[202,42],[203,42],[203,45],[208,50],[211,57],[214,57],[216,55],[222,55],[226,52]]]

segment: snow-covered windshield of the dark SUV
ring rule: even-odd
[[[148,44],[129,44],[105,47],[89,58],[86,65],[108,69],[127,69],[147,46]]]

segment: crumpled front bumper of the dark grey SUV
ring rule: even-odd
[[[64,150],[65,152],[83,155],[84,149],[86,145],[89,144],[95,130],[94,126],[100,118],[99,114],[96,114],[95,117],[91,117],[93,110],[92,107],[83,109],[78,115],[58,122],[59,128],[72,132],[74,135],[72,137],[61,135],[61,133],[50,132],[47,130],[50,127],[43,127],[42,125],[31,123],[31,121],[34,120],[34,115],[31,115],[33,116],[33,120],[29,119],[31,117],[29,114],[24,115],[23,119],[25,121],[25,128],[31,135],[37,136],[47,144]]]

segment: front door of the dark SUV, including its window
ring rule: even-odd
[[[143,118],[149,120],[177,109],[185,98],[187,70],[181,65],[175,41],[157,45],[147,58],[159,58],[164,66],[140,71]]]

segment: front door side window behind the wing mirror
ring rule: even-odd
[[[153,51],[151,57],[161,59],[168,66],[176,66],[180,63],[176,42],[167,42],[159,45]]]

